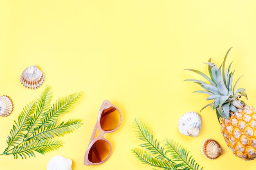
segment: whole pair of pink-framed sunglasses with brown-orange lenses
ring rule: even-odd
[[[110,101],[104,100],[99,109],[98,120],[93,129],[89,146],[85,152],[84,165],[97,165],[108,160],[112,153],[112,146],[103,136],[105,133],[112,133],[117,130],[121,121],[122,115],[119,108],[111,104]],[[99,130],[98,135],[97,130]]]

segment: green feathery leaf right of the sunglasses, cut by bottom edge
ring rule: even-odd
[[[189,156],[189,152],[177,142],[166,138],[163,141],[164,145],[161,146],[161,143],[154,139],[153,132],[148,126],[137,118],[133,120],[133,128],[137,138],[144,142],[139,145],[141,148],[132,148],[133,155],[141,163],[165,170],[200,169],[199,164]]]

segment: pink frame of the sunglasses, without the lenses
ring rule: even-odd
[[[111,130],[111,131],[103,130],[101,128],[101,122],[100,122],[101,121],[101,114],[102,114],[104,109],[108,108],[108,106],[109,107],[112,106],[112,107],[116,108],[118,110],[119,114],[120,114],[120,122],[119,122],[118,126],[115,129]],[[112,133],[115,130],[117,130],[119,128],[119,126],[121,125],[121,122],[122,122],[122,114],[121,114],[121,111],[119,110],[119,108],[117,108],[117,106],[111,104],[110,101],[104,100],[102,105],[101,105],[101,107],[100,107],[100,109],[99,109],[98,120],[97,120],[96,125],[94,126],[94,129],[93,129],[93,132],[92,132],[92,136],[91,136],[91,139],[90,139],[90,142],[89,142],[89,146],[88,146],[88,148],[87,148],[87,150],[85,152],[85,156],[84,156],[84,159],[83,159],[83,164],[84,165],[86,165],[86,166],[98,165],[98,164],[104,163],[105,161],[107,161],[109,159],[109,157],[110,157],[110,155],[112,153],[112,146],[111,146],[110,142],[106,138],[104,138],[103,136],[106,133]],[[98,129],[99,129],[99,135],[97,137],[95,137],[96,132],[97,132]],[[92,146],[98,140],[104,140],[104,141],[106,141],[109,144],[109,146],[110,146],[110,153],[109,153],[108,157],[105,160],[103,160],[103,161],[101,161],[99,163],[93,163],[93,162],[89,161],[88,155],[89,155],[89,152],[90,152]]]

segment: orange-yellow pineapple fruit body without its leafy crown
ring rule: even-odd
[[[256,109],[244,106],[243,110],[223,118],[222,135],[234,155],[245,160],[256,158]]]

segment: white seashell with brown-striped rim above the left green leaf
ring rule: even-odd
[[[45,81],[45,74],[40,71],[37,66],[30,66],[26,68],[20,75],[20,82],[23,86],[36,89],[42,86]]]

